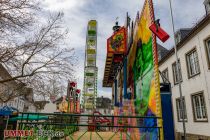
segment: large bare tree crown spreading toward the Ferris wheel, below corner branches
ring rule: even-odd
[[[0,83],[19,80],[37,74],[72,76],[73,49],[64,48],[62,41],[67,35],[62,31],[59,13],[48,21],[41,29],[23,45],[4,48],[0,53],[0,61],[14,75],[12,78],[0,80]]]

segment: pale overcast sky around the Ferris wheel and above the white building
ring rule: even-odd
[[[153,0],[155,16],[160,19],[161,26],[171,38],[164,44],[170,49],[173,45],[172,26],[170,19],[169,0]],[[189,28],[195,25],[205,14],[203,0],[172,0],[175,29]],[[112,35],[112,26],[116,17],[120,25],[124,25],[126,12],[135,19],[137,11],[142,10],[144,0],[44,0],[46,11],[63,11],[65,26],[70,35],[68,46],[75,48],[78,57],[76,78],[78,87],[83,87],[84,56],[87,23],[91,19],[98,22],[98,95],[111,97],[111,89],[102,87],[106,57],[106,39]]]

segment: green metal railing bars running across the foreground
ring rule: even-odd
[[[27,115],[27,118],[24,118],[23,116]],[[48,116],[48,119],[43,121],[43,120],[36,120],[36,121],[31,121],[29,118],[30,115],[37,115],[39,116]],[[132,129],[155,129],[158,132],[157,140],[161,139],[160,135],[160,127],[158,124],[153,125],[153,126],[144,126],[144,125],[130,125],[127,123],[120,123],[118,125],[114,124],[114,118],[118,118],[121,120],[121,122],[124,122],[126,119],[137,119],[137,120],[142,120],[142,119],[153,119],[153,120],[159,120],[161,119],[160,117],[155,117],[155,116],[112,116],[112,115],[94,115],[94,114],[67,114],[67,113],[21,113],[22,118],[18,122],[18,130],[34,130],[37,131],[40,128],[37,126],[41,126],[41,129],[44,130],[52,130],[56,126],[56,130],[62,130],[65,133],[64,137],[69,137],[71,140],[75,140],[73,138],[73,134],[78,131],[79,127],[90,127],[92,129],[88,129],[84,132],[82,132],[81,135],[78,136],[77,140],[80,140],[86,133],[90,133],[90,140],[93,139],[93,133],[96,133],[96,135],[103,140],[103,136],[100,135],[100,128],[111,128],[113,134],[109,136],[109,140],[112,140],[116,135],[119,135],[119,139],[122,140],[124,139],[123,136],[126,136],[126,139],[131,139],[131,133],[129,133],[129,130]],[[78,122],[80,117],[90,117],[93,120],[96,120],[96,118],[99,117],[106,117],[111,120],[111,124],[106,125],[106,124],[100,124],[100,123],[93,123],[93,124],[80,124]],[[65,118],[65,123],[64,119]],[[24,119],[24,120],[23,120]],[[31,127],[30,127],[31,126]],[[70,129],[70,127],[72,129]],[[58,129],[60,128],[60,129]],[[35,133],[36,134],[36,133]],[[152,135],[152,133],[150,134]],[[27,139],[34,139],[37,138],[36,136],[34,137],[28,137]],[[141,138],[145,138],[145,134],[141,135]],[[38,138],[39,140],[45,140],[48,139],[48,137],[41,137]]]

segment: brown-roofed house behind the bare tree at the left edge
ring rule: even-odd
[[[9,72],[0,64],[0,80],[12,78]],[[15,80],[0,84],[0,107],[14,107],[19,112],[36,112],[33,101],[33,89]]]

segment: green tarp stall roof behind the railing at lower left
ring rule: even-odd
[[[48,116],[23,114],[23,115],[19,115],[18,117],[10,118],[9,121],[17,121],[17,120],[29,120],[29,121],[34,121],[34,120],[47,120],[47,119],[48,119]]]

